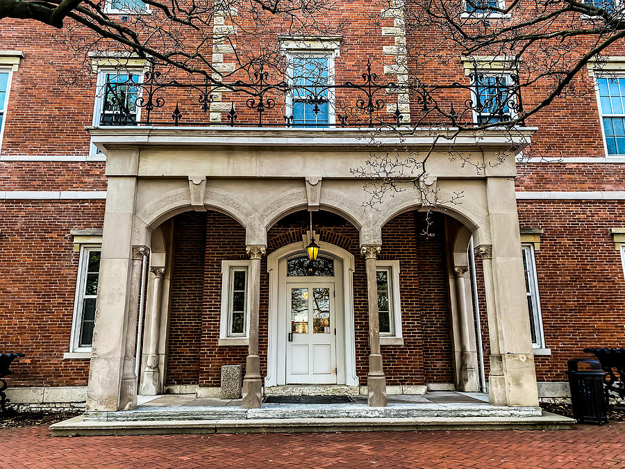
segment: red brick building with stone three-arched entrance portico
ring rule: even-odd
[[[47,28],[0,24],[0,344],[26,354],[14,403],[97,411],[131,409],[138,394],[215,396],[222,366],[244,365],[251,407],[307,386],[368,390],[374,406],[386,393],[486,388],[494,404],[535,406],[567,395],[566,360],[583,347],[625,345],[625,149],[610,131],[625,81],[584,70],[599,99],[557,101],[512,134],[459,135],[453,160],[428,129],[341,126],[353,90],[326,88],[311,110],[295,74],[356,83],[369,63],[406,78],[402,47],[420,39],[406,37],[401,8],[367,8],[346,3],[341,35],[263,39],[296,88],[263,127],[258,106],[219,88],[206,113],[201,90],[174,92],[143,122],[147,62],[91,54],[93,86],[60,85],[76,58]],[[215,16],[212,46],[224,72],[249,42],[228,15]],[[450,64],[429,76],[464,81],[462,102],[466,60]],[[415,121],[415,95],[385,99],[383,116]],[[174,103],[181,123],[206,125],[172,125]],[[521,161],[532,139],[546,156]],[[431,145],[425,191],[366,208],[354,168]]]

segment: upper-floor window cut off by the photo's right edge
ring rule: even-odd
[[[599,108],[608,155],[625,154],[625,78],[597,79]]]

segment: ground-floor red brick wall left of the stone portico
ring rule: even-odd
[[[69,352],[78,274],[70,229],[101,228],[104,201],[0,204],[0,352],[26,354],[10,386],[84,386],[88,360]]]

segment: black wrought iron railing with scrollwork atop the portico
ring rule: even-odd
[[[165,80],[154,67],[140,83],[106,83],[103,89],[101,125],[126,126],[274,126],[274,127],[376,127],[376,126],[476,126],[517,124],[524,126],[521,85],[515,74],[494,76],[474,64],[468,83],[395,83],[381,79],[367,63],[360,81],[318,83],[297,99],[310,106],[313,115],[333,101],[333,119],[301,122],[288,113],[288,97],[297,88],[288,81],[272,82],[263,64],[249,81],[215,85],[209,79],[183,83]],[[168,102],[165,95],[172,94]],[[403,94],[409,110],[398,104]],[[229,110],[213,108],[215,97],[228,96]],[[134,97],[134,98],[133,98]],[[292,100],[292,98],[291,98]],[[174,105],[175,102],[175,105]],[[283,104],[283,106],[278,106]],[[408,103],[404,101],[404,106]],[[390,107],[389,107],[390,106]],[[292,106],[291,106],[292,107]],[[390,109],[392,112],[389,112]],[[206,119],[219,114],[219,119]],[[334,122],[331,122],[334,121]]]

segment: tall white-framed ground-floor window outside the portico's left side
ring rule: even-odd
[[[80,253],[71,352],[91,349],[100,274],[100,247],[81,245]]]

